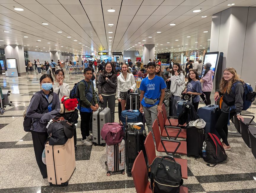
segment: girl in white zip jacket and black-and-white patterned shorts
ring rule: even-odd
[[[128,65],[122,64],[121,74],[117,77],[117,99],[121,102],[122,111],[125,110],[125,103],[127,98],[127,91],[134,91],[136,83],[134,76],[130,73]]]

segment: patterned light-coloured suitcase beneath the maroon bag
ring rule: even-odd
[[[108,166],[107,176],[111,172],[121,171],[124,175],[125,169],[125,141],[115,145],[106,145],[107,161],[105,164]]]

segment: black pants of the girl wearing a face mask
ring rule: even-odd
[[[43,178],[47,178],[47,169],[46,165],[42,161],[42,153],[44,151],[44,143],[47,140],[48,134],[47,132],[40,133],[35,131],[31,131],[31,134],[37,165]]]

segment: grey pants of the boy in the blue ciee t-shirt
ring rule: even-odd
[[[152,124],[153,122],[157,119],[157,105],[154,105],[153,107],[144,107],[143,106],[143,111],[144,111],[144,116],[145,116],[145,121],[148,127],[148,132],[152,131]],[[152,131],[153,133],[153,131]]]

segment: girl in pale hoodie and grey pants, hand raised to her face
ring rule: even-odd
[[[185,76],[180,67],[180,64],[175,62],[172,67],[171,77],[166,81],[171,80],[170,91],[171,97],[171,116],[177,116],[177,102],[181,100],[181,92],[185,88]]]

